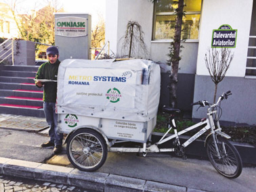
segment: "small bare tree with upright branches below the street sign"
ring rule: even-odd
[[[217,86],[225,77],[233,58],[234,53],[231,53],[231,49],[228,48],[221,48],[219,51],[216,48],[212,48],[208,49],[207,53],[205,53],[205,64],[211,75],[211,80],[215,84],[214,103],[216,100]]]

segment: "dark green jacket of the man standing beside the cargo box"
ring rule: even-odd
[[[57,80],[59,66],[59,60],[57,60],[55,64],[46,62],[39,67],[35,78]],[[49,103],[56,103],[57,82],[43,82],[43,85],[43,101]]]

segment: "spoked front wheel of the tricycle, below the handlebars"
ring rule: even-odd
[[[228,178],[236,178],[242,172],[242,160],[236,148],[221,136],[216,137],[220,156],[217,155],[213,137],[207,142],[207,155],[213,167]]]

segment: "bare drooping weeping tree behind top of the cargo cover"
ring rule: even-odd
[[[128,51],[128,57],[144,57],[148,59],[149,53],[144,42],[144,32],[138,22],[128,22],[125,36],[122,39],[122,55],[127,55]]]

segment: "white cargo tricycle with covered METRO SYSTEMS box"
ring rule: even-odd
[[[66,59],[58,71],[57,107],[58,130],[66,133],[66,151],[72,165],[79,170],[98,170],[108,151],[148,152],[174,151],[186,158],[185,147],[209,131],[205,140],[207,154],[213,167],[223,176],[236,178],[242,172],[242,161],[236,148],[228,141],[230,136],[221,132],[217,106],[231,95],[223,93],[217,103],[203,100],[193,103],[208,106],[207,118],[177,132],[175,115],[180,110],[168,106],[169,130],[156,143],[150,143],[156,125],[161,74],[152,61],[114,59],[90,61]],[[215,116],[215,121],[213,116]],[[198,133],[181,144],[179,135],[194,128]],[[173,135],[167,135],[173,129]],[[173,145],[161,149],[158,145],[173,139]],[[135,142],[140,147],[114,147],[116,143]]]

